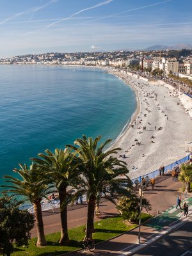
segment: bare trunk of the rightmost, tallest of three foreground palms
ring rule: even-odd
[[[86,234],[84,240],[92,239],[92,234],[94,232],[95,202],[96,200],[92,198],[90,198],[90,200],[88,201]]]

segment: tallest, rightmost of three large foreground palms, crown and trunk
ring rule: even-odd
[[[113,188],[116,193],[120,195],[130,195],[127,188],[124,185],[131,188],[132,182],[126,177],[121,179],[121,174],[127,174],[126,164],[123,161],[118,160],[116,157],[111,156],[116,154],[120,148],[114,148],[103,152],[104,147],[111,141],[107,140],[100,146],[97,146],[100,136],[92,140],[92,138],[86,138],[83,135],[83,139],[77,139],[74,144],[68,145],[77,151],[79,160],[79,169],[83,173],[81,179],[81,189],[77,193],[86,193],[88,201],[87,223],[86,223],[86,235],[84,239],[92,239],[92,233],[94,230],[94,211],[97,200],[97,195],[102,191],[103,187]]]

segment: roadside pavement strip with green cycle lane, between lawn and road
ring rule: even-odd
[[[191,214],[192,198],[186,198],[182,202],[185,201],[189,205],[189,214]],[[143,249],[150,243],[154,243],[154,241],[164,236],[164,234],[188,221],[189,218],[190,216],[185,217],[184,211],[176,209],[176,205],[174,205],[141,225],[141,244],[138,244],[138,228],[134,228],[109,241],[97,244],[94,252],[86,254],[95,256],[134,255],[138,250]],[[67,253],[67,255],[78,256],[80,252]]]

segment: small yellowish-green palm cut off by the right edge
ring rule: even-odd
[[[190,184],[192,180],[192,165],[182,164],[179,173],[179,180],[186,183],[186,191],[190,192]]]

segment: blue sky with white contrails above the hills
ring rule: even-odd
[[[192,44],[192,0],[0,0],[0,58]]]

